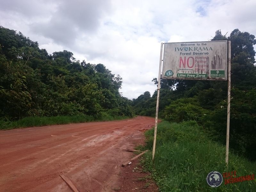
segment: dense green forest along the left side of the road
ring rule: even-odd
[[[0,26],[0,118],[132,116],[122,78],[69,51],[48,54],[22,33]]]

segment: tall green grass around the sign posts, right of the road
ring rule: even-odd
[[[145,132],[144,149],[152,151],[154,129]],[[209,172],[236,171],[236,177],[256,173],[256,162],[229,153],[228,168],[225,164],[225,146],[214,142],[194,121],[158,124],[156,154],[152,152],[142,160],[145,171],[151,172],[159,191],[256,191],[256,179],[222,184],[217,188],[206,182]],[[227,178],[228,179],[228,178]]]

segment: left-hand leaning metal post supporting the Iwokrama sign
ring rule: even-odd
[[[162,54],[163,54],[163,43],[161,43],[160,62],[159,62],[159,74],[158,74],[157,98],[156,98],[156,122],[155,122],[155,132],[154,132],[154,143],[153,143],[152,160],[154,160],[154,158],[155,158],[155,151],[156,151],[156,131],[157,131],[159,93],[160,93],[160,82],[161,82],[160,78],[161,78],[161,67],[162,67]]]

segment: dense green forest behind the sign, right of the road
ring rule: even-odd
[[[230,147],[256,160],[255,36],[235,29],[229,37],[218,30],[212,41],[231,41]],[[152,80],[155,84],[158,80]],[[213,140],[226,142],[227,81],[166,80],[160,82],[159,116],[170,122],[194,120]],[[156,92],[132,100],[136,114],[155,116]]]

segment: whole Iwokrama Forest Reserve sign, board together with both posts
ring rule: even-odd
[[[163,55],[164,58],[162,60]],[[164,46],[163,43],[161,43],[152,160],[154,160],[155,158],[156,151],[156,132],[162,63],[163,79],[228,80],[228,111],[226,137],[226,164],[228,166],[231,89],[231,42],[201,41],[183,43],[164,43]]]

